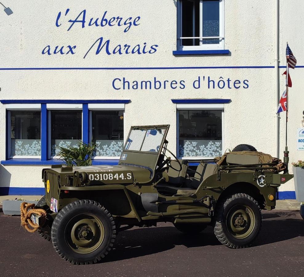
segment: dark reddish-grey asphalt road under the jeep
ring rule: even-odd
[[[170,223],[118,234],[115,249],[95,265],[61,259],[50,242],[0,213],[1,276],[304,276],[304,220],[299,211],[263,213],[254,245],[229,249],[211,227],[187,236]]]

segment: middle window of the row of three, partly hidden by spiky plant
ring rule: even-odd
[[[50,156],[57,156],[59,147],[73,147],[82,140],[81,110],[50,110]]]

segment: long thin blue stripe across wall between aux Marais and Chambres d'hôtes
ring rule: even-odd
[[[218,69],[218,68],[274,68],[274,66],[170,66],[170,67],[11,67],[0,70],[151,70],[151,69]],[[286,66],[279,66],[286,68]],[[296,66],[304,68],[304,66]]]

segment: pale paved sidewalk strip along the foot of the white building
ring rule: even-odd
[[[40,200],[42,195],[0,195],[0,208],[3,200],[15,200],[22,198],[25,200]],[[296,200],[277,200],[275,208],[277,210],[300,210],[300,202]]]

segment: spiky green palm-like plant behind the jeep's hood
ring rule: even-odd
[[[90,166],[92,165],[92,154],[96,144],[83,143],[77,141],[76,147],[59,147],[58,156],[66,162],[67,166]]]

